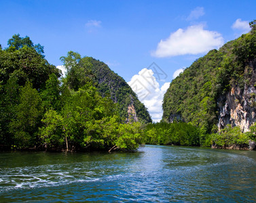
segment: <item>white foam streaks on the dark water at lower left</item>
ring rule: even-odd
[[[79,167],[80,166],[80,167]],[[94,177],[97,175],[97,177]],[[89,171],[83,164],[75,168],[67,164],[25,166],[1,168],[0,192],[12,189],[32,189],[37,187],[54,187],[77,182],[100,181],[102,171]]]

